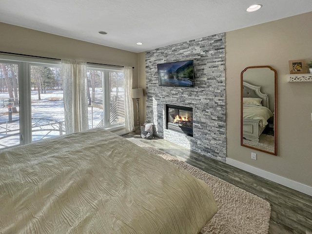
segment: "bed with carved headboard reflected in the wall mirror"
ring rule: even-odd
[[[259,137],[273,117],[269,109],[269,97],[261,92],[261,86],[243,82],[242,87],[242,133],[243,137],[259,142]]]

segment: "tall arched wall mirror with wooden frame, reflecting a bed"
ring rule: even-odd
[[[270,66],[241,72],[241,145],[277,155],[277,73]]]

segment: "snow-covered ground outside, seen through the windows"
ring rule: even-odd
[[[40,96],[41,96],[40,97],[41,100],[38,100],[38,91],[32,91],[31,109],[32,109],[32,118],[35,118],[32,120],[32,124],[33,124],[32,140],[33,141],[36,141],[42,138],[47,138],[47,137],[59,136],[60,132],[57,131],[59,129],[59,123],[62,123],[63,124],[62,127],[65,128],[63,91],[62,90],[47,91],[46,94],[41,94]],[[12,113],[12,120],[16,120],[16,121],[8,123],[9,108],[6,106],[7,104],[6,101],[8,99],[9,99],[8,93],[0,93],[0,148],[17,145],[20,142],[20,136],[19,136],[20,124],[18,121],[19,113]],[[19,107],[16,106],[16,108],[17,108],[17,111],[19,112]],[[95,107],[88,107],[88,116],[89,116],[89,128],[96,127],[103,118],[103,110],[99,108],[95,108]],[[38,127],[39,125],[44,124],[43,120],[40,120],[40,122],[38,122],[38,119],[42,119],[42,118],[49,119],[51,120],[50,122],[55,122],[54,128],[56,128],[56,131],[51,131],[51,132],[50,131],[38,131],[39,128],[51,129],[51,125]],[[65,131],[65,129],[63,130]],[[8,135],[11,135],[11,136],[5,137]]]

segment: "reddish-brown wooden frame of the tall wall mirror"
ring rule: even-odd
[[[256,148],[254,146],[246,145],[246,144],[243,143],[243,88],[246,85],[246,83],[243,83],[244,82],[243,74],[248,69],[257,69],[257,68],[269,68],[270,70],[272,70],[274,72],[274,82],[273,82],[274,83],[274,112],[273,112],[273,115],[274,115],[273,116],[274,117],[273,118],[273,124],[274,124],[274,126],[273,126],[273,131],[274,131],[274,151],[273,152],[265,150],[265,149],[261,149],[261,148]],[[268,154],[276,156],[277,155],[277,72],[271,66],[251,66],[251,67],[246,67],[241,72],[240,77],[241,77],[241,100],[240,100],[240,106],[241,106],[240,107],[240,109],[241,109],[241,117],[240,117],[240,120],[241,120],[241,123],[240,123],[240,134],[241,134],[241,137],[240,137],[240,139],[241,139],[241,141],[240,141],[240,145],[244,146],[244,147],[247,147],[247,148],[251,148],[251,149],[254,149],[254,150],[257,150],[257,151],[261,151],[261,152],[268,153]],[[255,86],[255,85],[252,85],[252,86],[258,88],[257,93],[260,93],[261,95],[267,96],[266,94],[262,94],[260,92],[260,88],[261,88],[260,86]],[[264,97],[264,99],[265,99],[265,97]],[[259,137],[260,137],[260,135],[259,135]]]

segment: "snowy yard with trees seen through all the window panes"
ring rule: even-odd
[[[12,84],[13,86],[18,85],[16,66],[0,63],[0,148],[20,144],[20,107],[18,99],[20,97],[18,88],[14,89],[12,87]],[[31,91],[32,141],[63,135],[65,134],[65,117],[60,68],[44,67],[42,69],[42,67],[38,66],[31,67],[32,83],[34,83]],[[3,69],[6,69],[6,71]],[[47,82],[47,79],[45,81],[42,79],[42,77],[47,78],[49,76],[50,80],[48,81],[50,83]],[[87,76],[90,129],[103,125],[103,82],[101,72],[87,71]],[[34,77],[37,77],[37,80]],[[45,84],[44,89],[41,87],[41,91],[38,90],[38,78],[40,77],[40,82]],[[15,80],[12,82],[12,79]],[[11,82],[11,86],[10,84],[7,85],[8,82]],[[14,84],[14,82],[17,84]],[[110,73],[110,86],[110,124],[123,124],[123,73],[112,72],[112,75]],[[11,91],[11,94],[9,94],[10,87],[15,92]]]

